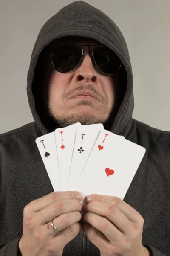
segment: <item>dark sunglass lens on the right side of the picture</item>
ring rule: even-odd
[[[119,71],[121,61],[108,47],[96,47],[94,49],[94,60],[99,69],[108,75]]]

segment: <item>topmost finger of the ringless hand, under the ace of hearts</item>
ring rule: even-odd
[[[93,199],[89,200],[89,198],[93,198]],[[113,204],[117,208],[119,208],[119,210],[123,212],[123,214],[132,222],[138,223],[139,218],[143,219],[142,216],[139,214],[139,212],[133,209],[133,207],[131,207],[121,198],[118,198],[116,196],[92,194],[92,195],[88,195],[86,199],[87,199],[87,202],[98,201],[98,202]]]

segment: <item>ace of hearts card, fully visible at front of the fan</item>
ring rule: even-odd
[[[124,199],[145,154],[145,148],[103,130],[77,183],[83,196],[112,195]]]

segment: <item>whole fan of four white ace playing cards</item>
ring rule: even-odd
[[[104,129],[76,123],[36,139],[54,191],[124,199],[145,148]]]

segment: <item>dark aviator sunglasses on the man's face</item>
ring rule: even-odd
[[[60,73],[67,73],[82,64],[84,59],[83,44],[59,45],[52,52],[52,64]],[[95,45],[94,45],[95,46]],[[96,46],[91,51],[91,59],[95,69],[106,75],[115,75],[119,72],[122,62],[108,47]]]

